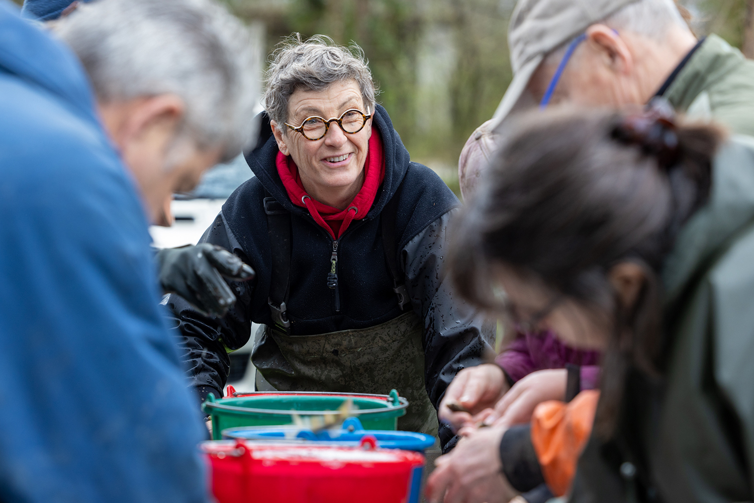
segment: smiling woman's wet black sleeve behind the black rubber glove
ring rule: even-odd
[[[253,267],[226,225],[222,212],[199,242],[221,246]],[[255,284],[256,280],[228,281],[237,301],[222,318],[197,311],[174,293],[167,298],[167,307],[175,317],[174,333],[180,357],[201,401],[210,392],[222,397],[222,388],[230,371],[228,351],[241,348],[249,341],[251,320],[248,313]]]

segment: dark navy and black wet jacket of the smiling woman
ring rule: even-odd
[[[204,394],[222,390],[228,376],[228,350],[241,348],[249,340],[251,323],[272,324],[268,307],[271,248],[262,204],[268,195],[291,213],[287,314],[292,336],[374,327],[402,314],[385,260],[380,219],[388,201],[399,198],[398,264],[406,275],[411,308],[424,323],[425,385],[432,403],[437,406],[458,370],[481,363],[483,352],[489,351],[481,333],[482,320],[454,296],[443,274],[446,228],[458,199],[432,170],[410,161],[382,106],[375,110],[372,127],[382,136],[385,179],[366,218],[351,222],[339,238],[341,309],[336,311],[333,290],[326,284],[333,240],[305,208],[288,198],[275,167],[277,143],[268,121],[263,121],[257,143],[261,146],[247,155],[256,177],[228,198],[202,238],[252,265],[256,279],[231,284],[239,300],[222,319],[199,314],[177,296],[171,295],[168,301],[178,318],[189,376]],[[254,350],[258,353],[269,357],[280,350],[271,338],[265,338]],[[280,359],[283,365],[282,354]]]

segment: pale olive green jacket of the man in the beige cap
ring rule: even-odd
[[[702,42],[663,97],[690,117],[754,135],[754,61],[717,35]]]

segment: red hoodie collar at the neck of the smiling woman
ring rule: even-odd
[[[275,164],[277,165],[277,174],[280,175],[286,192],[288,192],[288,197],[293,201],[293,204],[306,207],[314,221],[329,233],[333,241],[343,235],[354,219],[363,219],[366,213],[369,213],[369,208],[375,201],[377,189],[379,189],[382,180],[385,179],[385,155],[382,151],[382,137],[375,128],[372,128],[372,136],[369,138],[369,152],[367,152],[364,162],[364,184],[345,210],[339,210],[319,201],[314,201],[306,193],[299,176],[299,167],[296,166],[290,155],[277,152]]]

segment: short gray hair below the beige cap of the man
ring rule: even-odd
[[[617,29],[644,35],[655,41],[664,41],[671,24],[688,29],[688,24],[673,0],[639,0],[609,15],[601,23]],[[572,40],[561,44],[547,55],[547,64],[557,64]]]

